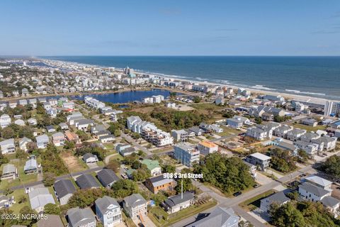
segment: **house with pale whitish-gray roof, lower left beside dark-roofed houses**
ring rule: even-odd
[[[44,211],[46,204],[55,204],[52,194],[47,187],[38,187],[28,192],[30,207],[38,213]]]

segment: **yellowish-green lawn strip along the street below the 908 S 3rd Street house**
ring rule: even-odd
[[[189,216],[193,216],[195,214],[201,213],[205,211],[206,209],[210,209],[212,206],[216,206],[216,204],[217,204],[217,201],[211,200],[205,204],[193,205],[193,206],[188,207],[187,209],[183,209],[179,212],[176,212],[175,214],[170,214],[168,220],[161,219],[161,221],[159,221],[159,219],[157,218],[157,215],[159,214],[165,215],[166,212],[160,211],[161,208],[159,207],[154,207],[149,212],[148,216],[156,226],[165,227],[165,226],[170,226],[171,224],[176,223],[177,221],[181,221],[184,218],[188,218]]]

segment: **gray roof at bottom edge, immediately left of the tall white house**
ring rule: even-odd
[[[94,212],[89,207],[84,209],[79,209],[78,207],[69,209],[67,211],[67,217],[72,226],[85,226],[87,223],[96,221]]]

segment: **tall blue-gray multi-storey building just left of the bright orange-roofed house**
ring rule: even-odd
[[[177,143],[174,146],[174,158],[183,165],[192,167],[200,162],[200,150],[193,148],[191,143]]]

